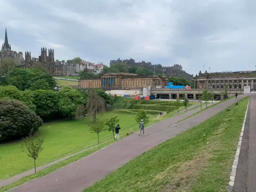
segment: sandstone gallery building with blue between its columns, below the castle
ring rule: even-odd
[[[114,89],[142,89],[151,85],[152,88],[157,86],[165,86],[168,79],[158,76],[139,76],[133,73],[106,73],[99,79],[79,79],[80,88],[101,88],[103,90]]]

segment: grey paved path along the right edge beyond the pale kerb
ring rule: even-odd
[[[256,94],[251,94],[233,192],[256,192]]]

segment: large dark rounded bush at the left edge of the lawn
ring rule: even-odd
[[[42,120],[18,100],[0,100],[0,141],[19,139],[35,133]]]

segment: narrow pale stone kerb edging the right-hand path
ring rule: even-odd
[[[251,97],[248,100],[247,108],[246,108],[246,111],[245,111],[244,122],[243,122],[243,125],[242,125],[240,137],[239,137],[237,148],[236,148],[236,154],[235,154],[234,161],[233,161],[233,164],[232,164],[232,170],[231,170],[231,173],[230,173],[230,181],[228,182],[228,186],[227,186],[227,191],[228,192],[232,192],[233,187],[234,187],[234,183],[235,183],[236,169],[237,169],[237,165],[238,165],[238,161],[239,161],[240,149],[241,149],[241,145],[242,145],[244,129],[245,129],[245,122],[246,122],[246,118],[247,118],[247,112],[248,112],[248,107],[249,107],[249,104],[250,104],[250,100],[251,100]]]

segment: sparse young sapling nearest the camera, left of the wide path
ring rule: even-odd
[[[39,154],[43,151],[43,142],[42,138],[34,141],[31,138],[27,138],[23,140],[21,144],[21,148],[23,152],[26,152],[27,155],[34,160],[34,173],[36,173],[35,160],[37,160]]]

